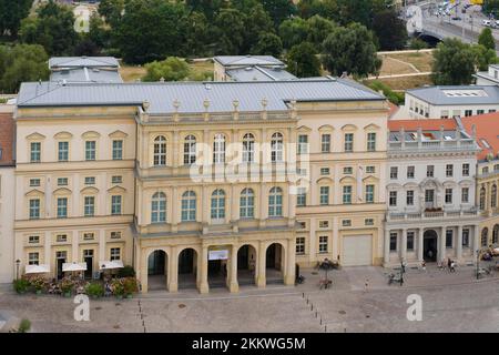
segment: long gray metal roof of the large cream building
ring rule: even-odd
[[[355,101],[385,100],[381,94],[350,80],[297,80],[255,82],[155,82],[155,83],[22,83],[18,106],[68,105],[140,105],[150,103],[151,114],[174,112],[173,102],[180,102],[180,113],[202,113],[203,101],[210,101],[210,112],[232,112],[233,100],[240,101],[240,111],[285,111],[288,101]]]

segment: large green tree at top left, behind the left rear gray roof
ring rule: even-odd
[[[20,34],[24,43],[41,44],[50,55],[71,54],[78,41],[73,11],[49,0],[37,10],[35,18],[21,21]]]

